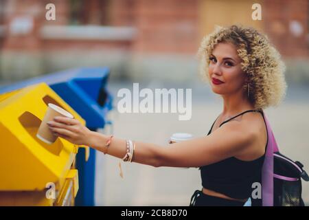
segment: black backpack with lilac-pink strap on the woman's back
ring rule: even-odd
[[[301,199],[301,178],[309,181],[309,177],[300,162],[294,162],[279,153],[275,136],[265,115],[264,120],[268,144],[262,167],[262,206],[304,206]]]

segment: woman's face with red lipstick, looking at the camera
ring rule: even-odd
[[[209,56],[209,79],[216,94],[233,94],[243,88],[245,74],[236,50],[232,43],[218,43]]]

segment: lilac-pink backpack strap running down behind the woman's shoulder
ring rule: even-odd
[[[267,146],[262,167],[262,206],[273,206],[273,153],[278,152],[279,148],[264,112],[263,118],[267,129]]]

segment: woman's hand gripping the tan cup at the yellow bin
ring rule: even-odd
[[[57,116],[47,124],[56,137],[65,138],[73,144],[89,146],[89,137],[92,131],[78,120]]]

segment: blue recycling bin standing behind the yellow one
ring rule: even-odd
[[[106,113],[111,111],[113,103],[113,96],[106,89],[109,73],[106,67],[69,69],[0,87],[0,94],[37,83],[47,83],[84,118],[89,129],[96,131],[104,128],[105,124],[111,124],[106,121]],[[84,158],[84,149],[80,148],[76,157],[80,187],[76,206],[94,206],[95,150],[90,148],[87,162]]]

